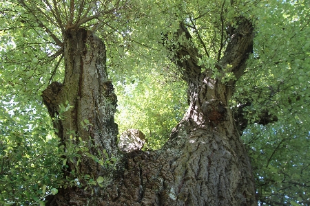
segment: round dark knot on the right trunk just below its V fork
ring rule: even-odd
[[[207,116],[209,121],[215,122],[216,124],[225,120],[227,115],[225,104],[216,99],[203,102],[201,111],[203,111],[203,114]]]

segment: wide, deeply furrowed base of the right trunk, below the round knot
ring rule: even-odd
[[[257,205],[238,139],[185,124],[176,129],[177,137],[162,150],[127,154],[111,185],[93,188],[93,195],[83,188],[63,190],[51,205]]]

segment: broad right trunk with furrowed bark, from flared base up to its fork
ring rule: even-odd
[[[229,54],[238,58],[232,65],[236,72],[248,56],[238,43],[253,44],[253,35],[245,38],[227,47],[236,52]],[[123,170],[104,190],[94,187],[95,195],[72,187],[54,196],[50,205],[257,205],[249,157],[228,107],[233,91],[194,68],[195,49],[187,49],[176,55],[187,54],[192,61],[185,60],[183,67],[190,105],[167,144],[161,150],[125,155]]]

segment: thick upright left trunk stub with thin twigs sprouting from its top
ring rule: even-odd
[[[70,149],[70,144],[78,145],[84,141],[90,155],[99,155],[99,150],[102,154],[105,149],[109,156],[117,157],[118,128],[114,123],[117,98],[112,82],[107,79],[105,44],[83,29],[68,30],[64,38],[64,82],[52,82],[42,95],[54,118],[56,135],[65,150]],[[65,102],[73,108],[61,113],[59,105],[66,106]],[[61,115],[61,118],[55,119],[55,115]],[[78,153],[82,154],[81,151]],[[68,159],[68,165],[69,171],[75,170],[79,174],[98,176],[103,173],[103,168],[90,157]]]

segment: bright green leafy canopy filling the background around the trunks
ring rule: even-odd
[[[173,62],[174,50],[186,41],[174,38],[180,23],[203,69],[227,85],[238,78],[229,106],[251,158],[258,203],[310,205],[308,1],[12,0],[0,5],[0,205],[43,205],[47,194],[76,185],[63,178],[64,157],[74,151],[59,146],[41,100],[50,82],[64,78],[63,32],[83,27],[105,41],[120,133],[138,128],[147,137],[145,149],[154,150],[165,144],[187,109],[184,71]],[[240,18],[254,25],[254,47],[244,73],[234,74],[230,65],[217,64]],[[63,111],[69,108],[63,105]]]

